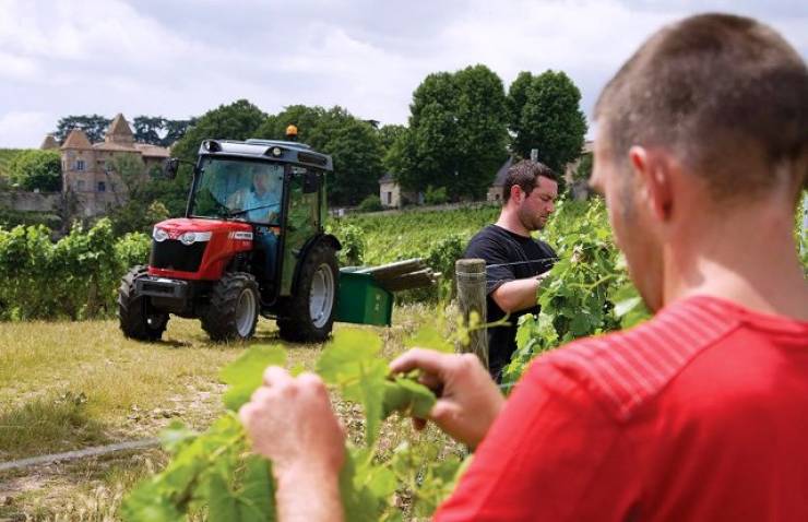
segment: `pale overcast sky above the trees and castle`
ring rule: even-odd
[[[341,105],[406,123],[430,72],[484,63],[504,82],[566,71],[592,105],[662,25],[756,16],[808,56],[808,3],[523,0],[0,0],[0,147],[36,147],[60,117],[187,118],[247,98],[266,112]]]

